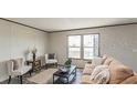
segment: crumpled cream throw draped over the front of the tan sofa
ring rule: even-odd
[[[108,65],[96,66],[91,74],[91,81],[95,84],[106,84],[109,81]]]

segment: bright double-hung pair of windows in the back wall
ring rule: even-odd
[[[98,34],[68,35],[68,58],[92,59],[98,56]]]

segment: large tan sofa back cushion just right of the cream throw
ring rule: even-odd
[[[110,69],[110,80],[109,80],[110,84],[118,84],[124,80],[126,80],[127,78],[134,75],[134,72],[131,69],[123,65],[122,63],[115,60],[110,62],[109,69]]]

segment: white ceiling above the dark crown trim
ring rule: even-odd
[[[45,31],[61,31],[137,22],[137,18],[7,18]]]

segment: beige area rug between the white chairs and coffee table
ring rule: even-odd
[[[57,69],[44,70],[44,71],[29,78],[28,81],[35,83],[35,84],[52,84],[53,83],[53,73],[56,71],[57,71]]]

